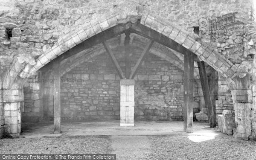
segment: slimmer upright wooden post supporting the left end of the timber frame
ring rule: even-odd
[[[60,134],[61,133],[61,67],[60,61],[54,64],[53,67],[53,96],[54,96],[54,131],[53,134]]]

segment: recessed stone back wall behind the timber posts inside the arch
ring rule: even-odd
[[[131,51],[132,67],[142,51],[140,48]],[[123,47],[118,47],[113,52],[116,53],[120,66],[125,70]],[[135,120],[182,120],[182,79],[182,70],[155,55],[147,55],[135,76]],[[45,83],[45,93],[52,92],[52,84]],[[25,90],[28,94],[25,96],[27,98],[25,98],[26,113],[24,115],[26,116],[35,116],[34,113],[39,112],[38,90],[35,87],[38,85],[35,85],[32,80],[26,84]],[[197,96],[197,89],[198,85],[195,83],[195,96]],[[119,119],[119,93],[119,76],[105,52],[80,64],[61,77],[61,116],[64,119],[76,120]],[[52,99],[51,95],[43,98],[44,119],[50,119],[53,116]],[[37,105],[31,108],[32,103]],[[199,103],[195,105],[195,112],[198,109]]]

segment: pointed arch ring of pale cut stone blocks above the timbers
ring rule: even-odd
[[[111,15],[99,17],[90,23],[86,23],[84,26],[81,26],[59,38],[57,43],[51,49],[44,52],[36,58],[35,61],[29,56],[26,58],[17,58],[17,61],[14,62],[10,67],[10,70],[6,73],[3,81],[4,89],[9,88],[13,82],[19,79],[19,77],[28,78],[29,76],[34,75],[41,67],[44,67],[44,65],[48,64],[53,59],[61,56],[69,49],[93,37],[94,35],[104,32],[118,24],[125,24],[127,22],[136,23],[137,20],[140,20],[141,25],[158,32],[186,49],[189,49],[202,61],[205,61],[217,70],[222,76],[231,78],[236,73],[237,68],[231,61],[227,60],[223,55],[214,51],[210,47],[205,47],[200,44],[192,38],[191,35],[181,29],[177,29],[175,26],[172,26],[168,20],[148,12],[137,12],[137,14],[132,12],[132,15],[126,15],[125,18],[122,18],[122,16],[123,15],[119,13],[113,13]]]

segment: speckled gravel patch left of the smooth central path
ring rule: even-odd
[[[109,154],[109,136],[0,139],[1,154]]]

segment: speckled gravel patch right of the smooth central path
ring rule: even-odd
[[[152,160],[256,160],[256,142],[216,137],[195,143],[186,135],[148,136]]]

